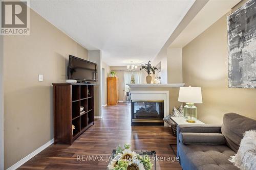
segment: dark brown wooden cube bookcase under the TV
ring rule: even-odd
[[[94,125],[94,84],[53,83],[53,101],[54,144],[72,144]]]

